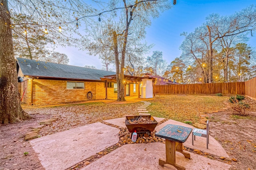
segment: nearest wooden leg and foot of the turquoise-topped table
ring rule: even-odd
[[[165,140],[165,151],[166,151],[166,160],[159,159],[159,165],[164,166],[164,164],[170,164],[174,166],[177,170],[186,170],[183,166],[176,164],[176,142]]]

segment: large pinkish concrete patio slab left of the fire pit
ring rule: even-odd
[[[30,141],[46,170],[64,170],[119,141],[119,129],[92,123]]]

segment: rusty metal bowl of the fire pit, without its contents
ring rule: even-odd
[[[146,123],[146,124],[130,124],[129,123],[130,119],[134,119],[134,118],[136,119],[138,117],[150,118],[150,120],[152,120],[153,123]],[[134,131],[136,131],[137,133],[153,132],[157,123],[158,122],[151,115],[126,116],[126,119],[125,119],[125,125],[130,133],[133,133]]]

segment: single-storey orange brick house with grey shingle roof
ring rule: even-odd
[[[49,105],[117,99],[116,72],[22,58],[17,58],[16,63],[23,103]],[[152,86],[154,78],[125,75],[125,96],[145,97],[139,88],[143,79],[151,80]]]

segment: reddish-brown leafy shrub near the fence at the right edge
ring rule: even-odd
[[[233,99],[232,103],[231,108],[236,114],[241,116],[248,115],[248,109],[250,108],[249,104],[241,102],[237,99]]]

